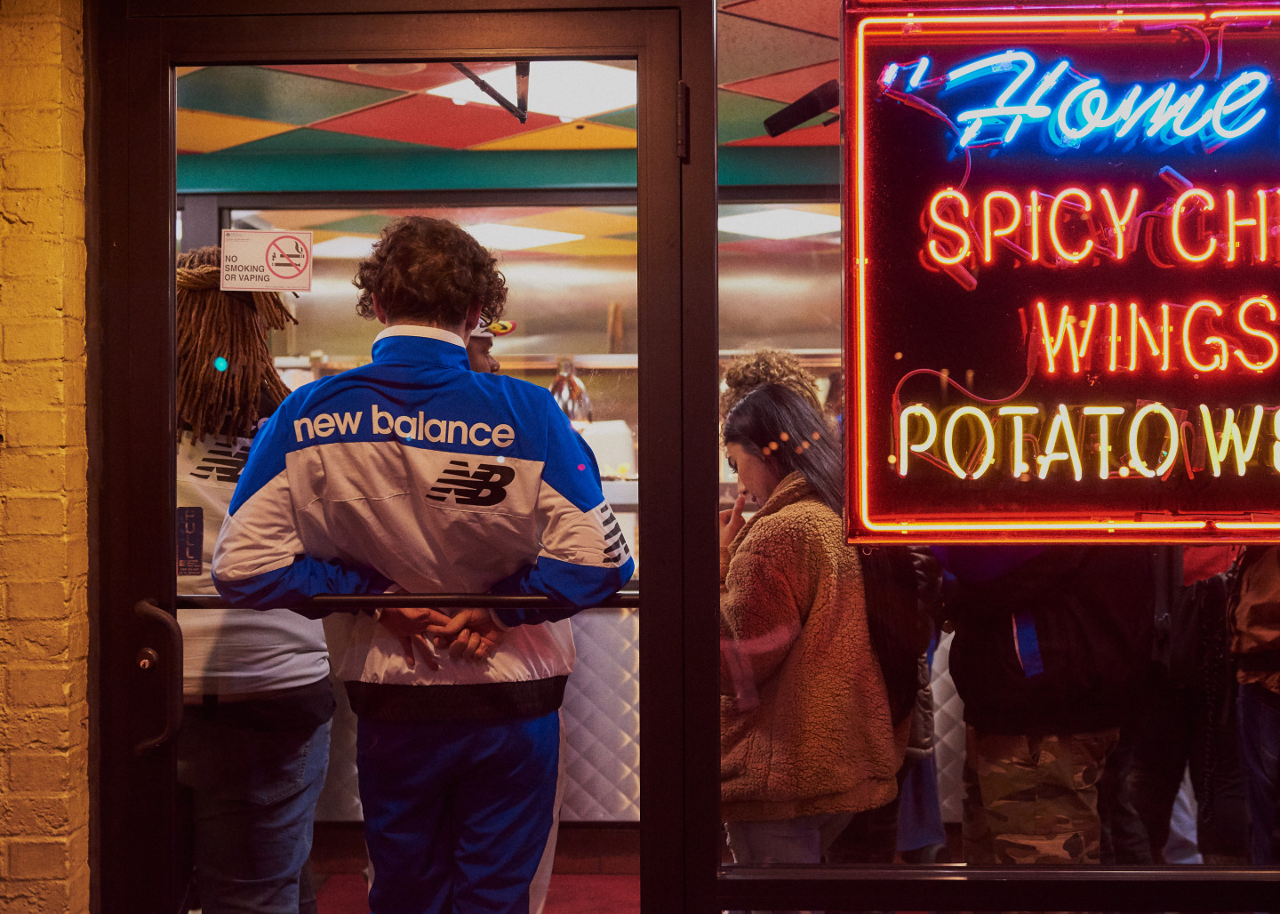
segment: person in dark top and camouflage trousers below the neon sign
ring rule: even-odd
[[[940,549],[955,584],[966,863],[1097,863],[1097,785],[1151,658],[1152,550]]]

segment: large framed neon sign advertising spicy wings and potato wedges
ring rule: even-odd
[[[1280,541],[1280,22],[846,17],[850,535]]]

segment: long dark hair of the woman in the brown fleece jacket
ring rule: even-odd
[[[837,515],[845,507],[845,462],[836,433],[818,410],[781,384],[762,384],[724,417],[724,444],[772,461],[781,475],[799,470]]]

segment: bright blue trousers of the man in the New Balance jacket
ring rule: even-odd
[[[374,914],[527,914],[553,826],[559,714],[356,732]]]

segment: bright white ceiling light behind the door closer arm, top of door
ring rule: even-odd
[[[508,99],[516,97],[516,68],[503,67],[484,74],[485,82]],[[426,90],[454,101],[497,102],[470,79]],[[590,118],[636,104],[635,70],[589,60],[535,60],[529,73],[529,110],[557,118]]]

